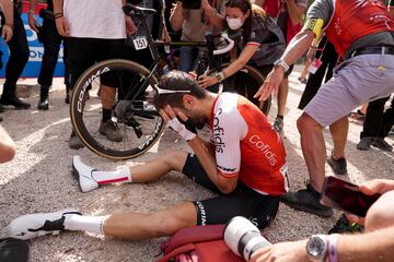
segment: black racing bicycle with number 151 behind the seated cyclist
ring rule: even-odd
[[[206,56],[200,57],[196,67],[198,74],[215,73],[221,71],[227,64],[221,64],[222,59],[213,59],[213,56],[228,53],[234,46],[234,40],[227,34],[206,36],[206,41],[160,41],[153,40],[147,23],[147,16],[153,14],[153,9],[142,9],[131,4],[124,7],[127,15],[132,15],[140,21],[147,35],[132,40],[137,50],[150,48],[154,60],[151,70],[134,61],[124,59],[111,59],[99,62],[89,68],[77,81],[71,96],[70,116],[74,131],[83,144],[103,157],[111,159],[128,159],[137,157],[150,150],[160,139],[164,122],[151,104],[153,87],[158,80],[164,74],[164,66],[160,61],[158,48],[160,46],[194,46],[204,48]],[[221,37],[217,45],[216,39]],[[234,36],[236,37],[236,36]],[[225,44],[222,49],[216,50],[217,46]],[[216,64],[215,64],[216,63]],[[218,64],[219,63],[219,64]],[[116,123],[123,134],[120,142],[112,142],[99,132],[101,121],[101,79],[109,75],[118,84],[117,97],[113,107],[112,120]],[[246,85],[242,84],[247,82]],[[253,97],[257,88],[263,84],[262,73],[245,66],[234,75],[224,80],[220,86],[225,91],[235,91],[246,97]],[[254,90],[251,88],[252,84]],[[233,86],[237,86],[234,88]],[[211,90],[219,92],[219,85]],[[251,96],[252,95],[252,96]],[[270,98],[258,104],[264,114],[268,114]]]

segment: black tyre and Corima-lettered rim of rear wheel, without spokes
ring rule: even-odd
[[[136,62],[132,62],[129,60],[124,60],[124,59],[105,60],[105,61],[99,62],[99,63],[94,64],[93,67],[89,68],[78,79],[78,81],[74,85],[73,92],[72,92],[71,103],[70,103],[71,122],[72,122],[74,131],[77,132],[78,136],[81,139],[82,143],[89,150],[94,152],[95,154],[106,157],[106,158],[117,159],[117,160],[134,158],[134,157],[137,157],[137,156],[146,153],[147,151],[149,151],[160,139],[161,134],[164,131],[164,126],[165,126],[163,119],[160,117],[159,114],[155,112],[155,115],[157,115],[157,117],[154,119],[155,122],[152,121],[152,123],[151,122],[148,123],[150,126],[154,124],[152,132],[149,131],[150,133],[148,135],[143,135],[144,139],[142,139],[141,142],[139,142],[136,146],[130,147],[130,148],[125,147],[125,150],[108,147],[106,144],[103,144],[102,141],[104,139],[101,139],[99,136],[96,138],[95,135],[92,134],[93,132],[89,131],[89,128],[86,127],[86,124],[84,122],[84,117],[86,117],[86,116],[83,116],[84,115],[83,112],[84,112],[84,108],[86,107],[86,103],[93,98],[92,97],[90,97],[89,99],[84,98],[86,93],[88,94],[90,93],[89,87],[86,87],[86,86],[96,85],[94,83],[94,81],[99,76],[101,76],[104,71],[113,72],[113,74],[115,74],[115,72],[120,71],[120,70],[124,70],[128,74],[132,73],[137,78],[141,78],[141,80],[142,79],[147,80],[148,86],[153,86],[154,84],[158,83],[158,80],[154,75],[150,75],[148,78],[148,75],[150,74],[150,71],[139,63],[136,63]],[[124,71],[121,71],[121,72],[124,72]],[[120,78],[123,78],[123,74]],[[99,78],[99,79],[101,80],[101,78]],[[139,82],[137,82],[137,84],[139,84],[141,82],[141,80]],[[119,81],[118,83],[121,83],[121,81]],[[134,82],[131,82],[131,83],[134,83]],[[146,82],[143,82],[143,83],[146,83]],[[99,84],[99,85],[101,86],[101,84]],[[117,95],[119,94],[119,92],[120,91],[117,90]],[[144,90],[143,90],[143,92],[144,92]],[[100,96],[99,93],[100,93],[100,91],[97,92],[97,96]],[[81,98],[81,97],[83,97],[83,98]],[[84,102],[82,102],[82,100],[84,100]],[[97,99],[95,99],[95,100],[97,100]],[[130,103],[134,103],[134,102],[130,100]],[[138,102],[136,100],[136,103],[143,103],[143,100],[138,100]],[[99,104],[99,103],[96,103],[96,104]],[[83,105],[83,106],[81,106],[81,105]],[[155,111],[154,108],[152,108],[150,110]],[[86,109],[85,115],[88,112],[90,112],[90,111],[88,111],[88,109]],[[141,115],[138,115],[138,116],[141,117]],[[138,117],[138,116],[136,115],[136,117]],[[144,120],[144,121],[147,122],[147,120]],[[125,124],[125,127],[126,127],[126,124]],[[123,128],[125,128],[125,127],[123,127]],[[95,128],[97,129],[97,127],[95,127]],[[124,130],[125,132],[126,131],[128,132],[129,130],[131,130],[129,127],[126,127],[126,128],[127,128],[127,130]],[[136,132],[136,138],[137,138],[137,132]],[[127,136],[127,139],[128,139],[128,136]],[[114,144],[114,142],[109,142],[109,143]]]

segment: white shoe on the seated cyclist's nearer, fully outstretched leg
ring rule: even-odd
[[[26,240],[45,235],[59,235],[65,230],[63,223],[68,214],[82,215],[78,210],[23,215],[4,227],[2,236]]]

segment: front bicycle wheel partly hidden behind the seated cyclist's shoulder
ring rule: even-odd
[[[224,63],[219,68],[210,70],[208,74],[220,72],[228,66],[229,63]],[[264,80],[265,78],[257,69],[246,64],[243,69],[222,82],[223,91],[236,92],[237,94],[245,96],[248,100],[258,106],[264,115],[268,116],[271,106],[271,97],[269,96],[265,102],[259,102],[258,99],[253,98],[258,88],[263,85]],[[217,87],[211,86],[209,90],[215,91]]]

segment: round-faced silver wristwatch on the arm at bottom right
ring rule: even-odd
[[[328,251],[326,235],[313,235],[306,242],[306,253],[311,261],[324,262]]]

